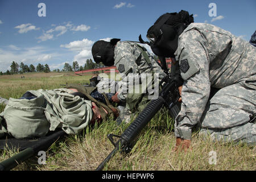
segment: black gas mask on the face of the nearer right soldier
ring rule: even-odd
[[[170,16],[170,14],[164,15],[158,23],[149,28],[147,39],[150,41],[150,47],[155,55],[174,57],[179,34],[177,26],[164,24]]]

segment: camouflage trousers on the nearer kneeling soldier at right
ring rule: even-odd
[[[220,89],[208,102],[201,118],[200,134],[213,141],[255,145],[254,84],[248,88],[243,82]]]

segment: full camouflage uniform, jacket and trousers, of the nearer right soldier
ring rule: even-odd
[[[176,137],[191,139],[199,123],[213,140],[255,144],[256,48],[211,24],[191,23],[175,55],[184,80]],[[210,86],[220,90],[208,100]]]

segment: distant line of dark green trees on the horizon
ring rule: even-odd
[[[24,63],[20,63],[18,64],[17,62],[13,61],[10,65],[11,69],[9,71],[9,69],[3,73],[0,72],[0,75],[13,75],[13,74],[23,74],[23,73],[30,73],[30,72],[45,72],[45,73],[49,73],[51,72],[51,70],[49,69],[49,65],[48,64],[38,64],[36,67],[34,67],[34,65],[30,64],[29,66],[24,64]],[[64,64],[64,68],[60,71],[60,69],[54,69],[53,72],[73,72],[73,71],[84,71],[87,69],[93,69],[93,68],[101,68],[104,67],[104,64],[100,63],[100,64],[96,64],[93,62],[92,59],[87,59],[85,61],[84,66],[79,65],[79,63],[77,63],[77,61],[73,61],[72,66],[69,65],[68,63]]]

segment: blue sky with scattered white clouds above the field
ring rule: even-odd
[[[46,5],[46,16],[38,16],[39,3]],[[209,16],[210,3],[216,16]],[[12,61],[48,64],[51,70],[74,60],[84,65],[97,40],[138,41],[139,34],[146,40],[160,15],[180,10],[247,41],[256,30],[255,0],[0,0],[0,71],[10,70]]]

